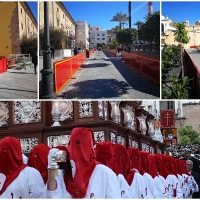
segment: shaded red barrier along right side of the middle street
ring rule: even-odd
[[[116,56],[116,50],[106,50],[108,53]],[[145,76],[160,84],[160,61],[151,58],[138,56],[136,54],[121,52],[121,59],[128,65],[134,67]]]

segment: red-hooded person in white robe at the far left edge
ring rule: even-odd
[[[0,198],[43,198],[44,182],[40,173],[23,163],[20,139],[0,140]]]

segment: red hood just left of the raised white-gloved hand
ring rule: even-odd
[[[28,166],[34,167],[40,172],[45,184],[48,179],[47,166],[49,151],[50,147],[46,144],[38,144],[32,149],[27,164]]]

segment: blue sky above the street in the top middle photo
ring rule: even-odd
[[[68,12],[74,20],[86,20],[91,26],[100,26],[104,31],[110,30],[119,25],[118,22],[111,22],[110,20],[117,12],[122,11],[123,14],[128,16],[128,1],[117,2],[62,2],[67,8]],[[144,16],[147,15],[147,2],[132,1],[131,2],[131,26],[136,21],[145,21]],[[153,2],[153,12],[160,10],[160,2]],[[124,25],[128,28],[128,22]]]

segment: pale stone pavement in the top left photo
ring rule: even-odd
[[[38,75],[33,67],[0,74],[0,99],[38,99]]]

